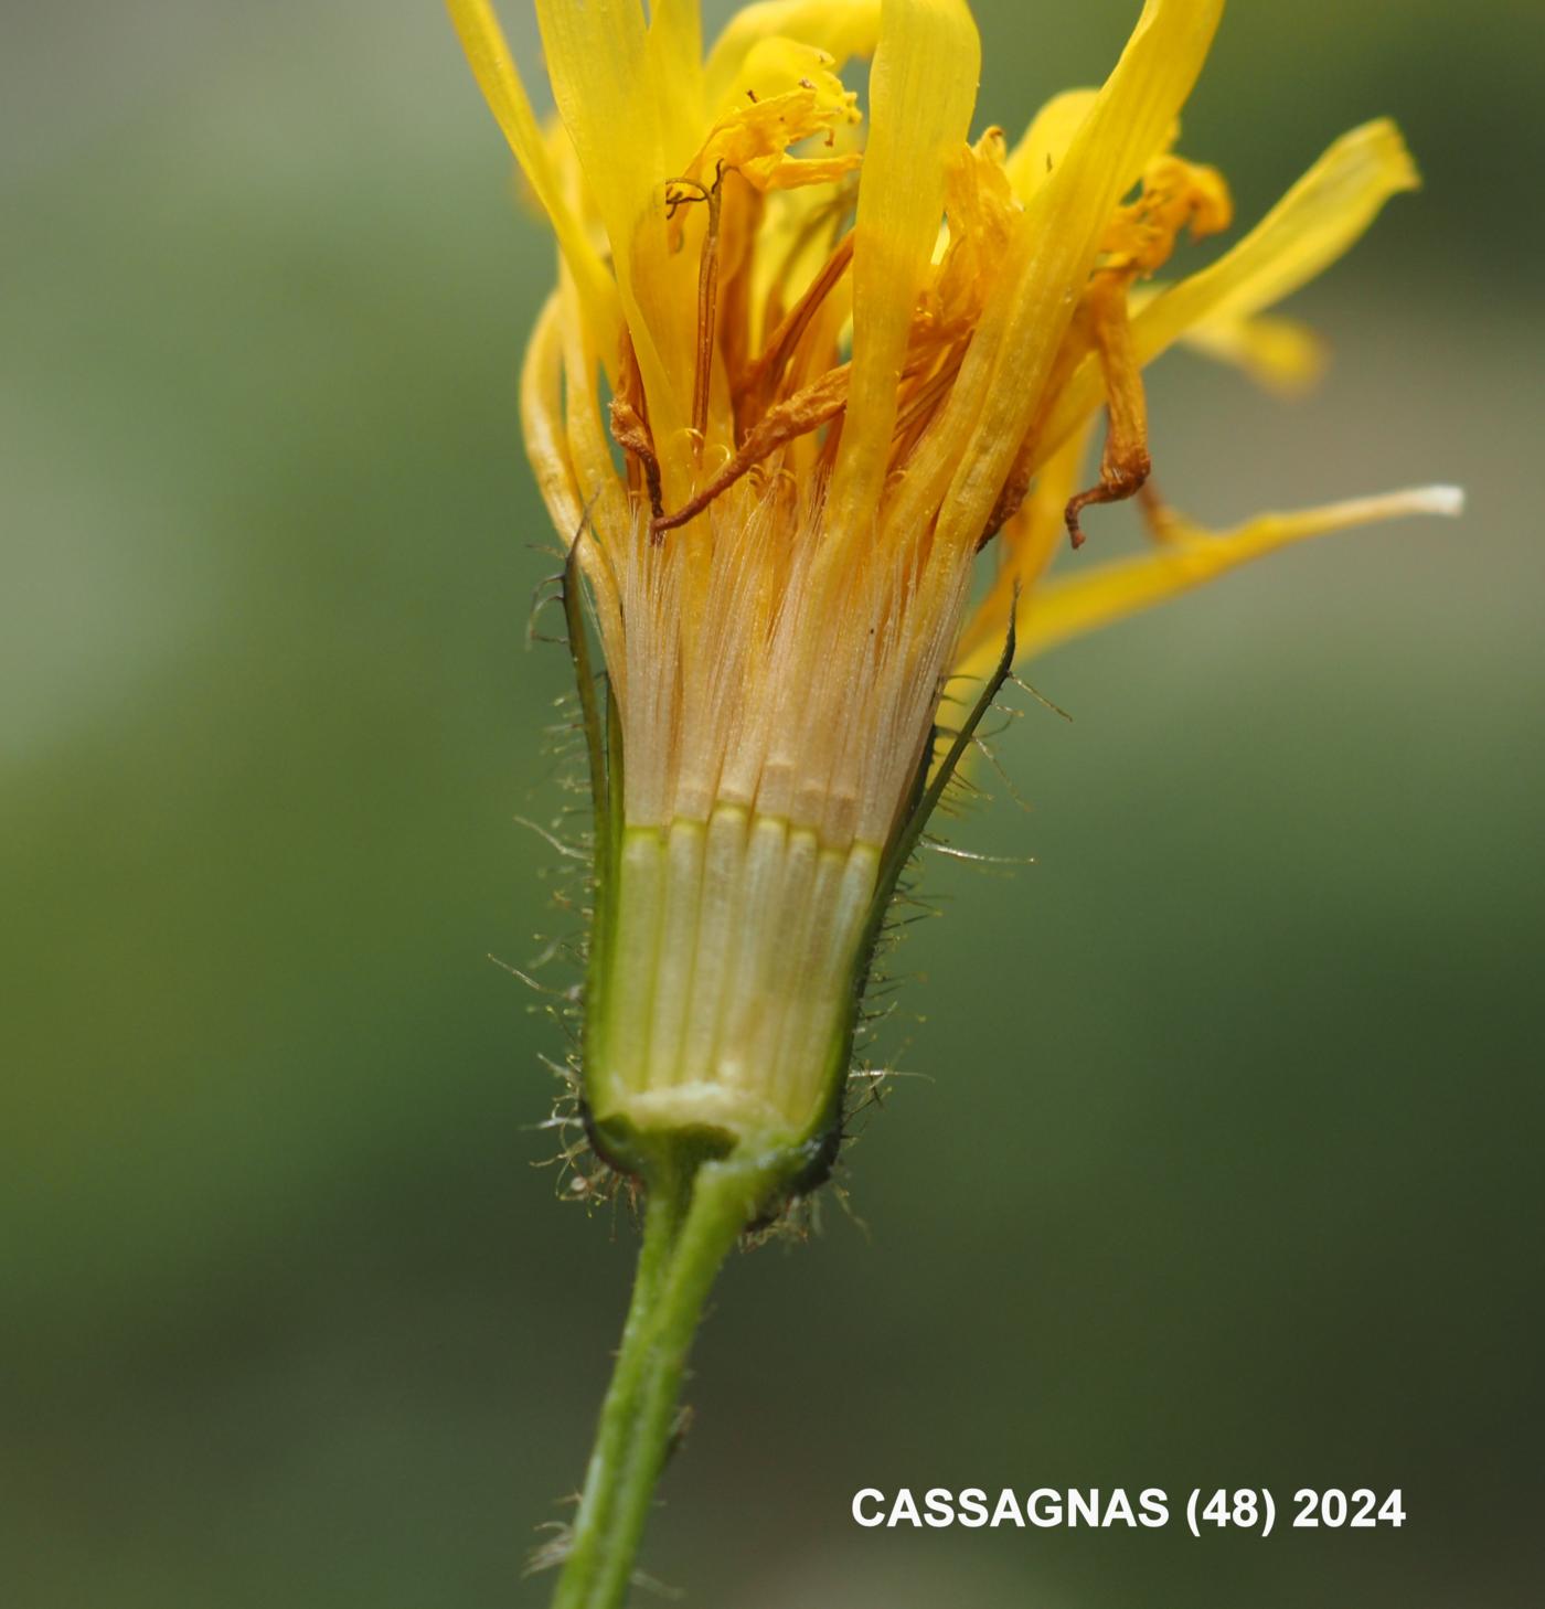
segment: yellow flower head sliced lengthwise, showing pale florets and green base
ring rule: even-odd
[[[877,914],[1006,644],[1447,505],[1213,536],[1149,499],[1149,553],[1043,579],[1086,510],[1144,489],[1143,367],[1188,339],[1302,378],[1312,339],[1265,309],[1415,169],[1392,126],[1358,129],[1160,288],[1231,224],[1222,175],[1175,151],[1222,0],[1147,0],[1104,87],[1016,140],[970,138],[964,0],[761,0],[707,53],[695,0],[649,19],[536,0],[550,129],[488,0],[449,5],[560,248],[523,425],[608,679],[591,1113],[644,1171],[684,1136],[808,1152],[837,1117]],[[842,72],[866,56],[861,119]],[[978,563],[996,573],[969,611]]]

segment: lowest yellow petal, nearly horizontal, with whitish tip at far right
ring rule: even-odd
[[[1044,653],[1069,637],[1152,608],[1252,558],[1312,536],[1410,513],[1458,515],[1463,508],[1465,494],[1456,486],[1421,486],[1296,513],[1263,513],[1218,536],[1170,516],[1167,539],[1152,552],[1049,581],[1027,599],[1020,610],[1019,652],[1022,658]],[[974,665],[975,674],[985,674],[991,668],[991,653],[985,661],[978,655]]]

